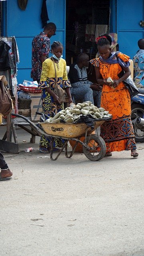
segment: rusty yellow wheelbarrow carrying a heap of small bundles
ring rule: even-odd
[[[50,150],[50,159],[57,160],[60,154],[65,148],[65,156],[71,158],[75,152],[76,146],[78,143],[82,144],[83,152],[85,156],[91,161],[101,160],[106,154],[106,143],[103,138],[98,135],[98,127],[102,125],[105,121],[110,120],[111,118],[97,119],[94,122],[94,129],[91,129],[90,126],[87,126],[85,123],[43,123],[39,122],[38,126],[28,120],[26,117],[14,114],[15,116],[21,117],[26,120],[30,127],[33,128],[38,133],[43,134],[46,137],[51,138],[51,150]],[[91,134],[96,130],[96,134]],[[84,136],[84,142],[80,140],[80,137]],[[58,152],[57,156],[53,158],[53,144],[54,139],[64,139],[64,144]],[[76,141],[74,148],[68,155],[68,142],[69,140]]]

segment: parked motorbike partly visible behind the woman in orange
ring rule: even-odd
[[[144,142],[144,89],[138,88],[139,94],[131,99],[131,119],[134,127],[135,141]]]

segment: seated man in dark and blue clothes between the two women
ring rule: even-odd
[[[74,100],[82,100],[82,102],[89,100],[99,108],[102,87],[88,80],[86,72],[88,65],[89,56],[85,53],[80,53],[76,64],[70,65],[70,71],[68,73],[72,86],[70,93],[74,97]]]

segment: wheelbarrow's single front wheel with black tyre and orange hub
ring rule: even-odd
[[[103,138],[96,134],[91,134],[84,140],[84,144],[88,145],[91,150],[83,146],[85,156],[91,161],[98,161],[106,154],[106,143]]]

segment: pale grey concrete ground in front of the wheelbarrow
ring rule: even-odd
[[[4,154],[13,179],[0,182],[0,256],[144,256],[144,143],[138,158],[51,161],[39,137],[17,135],[20,153]]]

